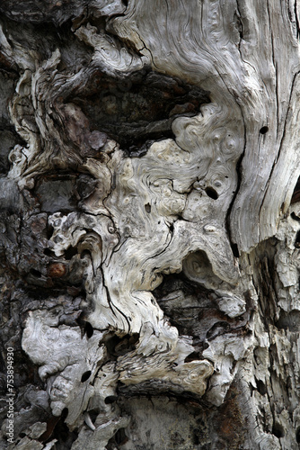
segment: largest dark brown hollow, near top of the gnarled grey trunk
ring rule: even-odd
[[[130,77],[124,89],[118,80],[95,71],[83,90],[72,93],[67,102],[77,104],[91,123],[128,150],[129,156],[140,156],[147,142],[172,138],[172,121],[181,115],[196,115],[208,93],[179,78],[140,70]]]

